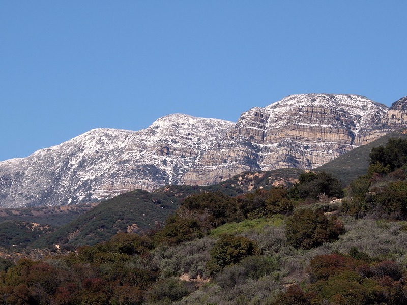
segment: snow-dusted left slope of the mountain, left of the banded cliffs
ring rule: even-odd
[[[27,158],[0,162],[0,206],[94,202],[178,184],[232,125],[173,114],[138,132],[91,130]]]

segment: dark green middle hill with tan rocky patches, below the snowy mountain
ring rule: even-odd
[[[249,190],[270,189],[273,184],[293,185],[302,171],[278,169],[245,172],[211,186],[167,186],[155,192],[135,190],[98,204],[86,214],[32,243],[33,248],[74,249],[107,241],[118,232],[146,232],[162,225],[181,200],[200,192],[237,196]]]

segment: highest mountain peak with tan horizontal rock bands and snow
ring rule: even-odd
[[[387,106],[358,95],[291,95],[252,108],[183,181],[208,184],[236,170],[321,166],[390,132],[386,113]]]

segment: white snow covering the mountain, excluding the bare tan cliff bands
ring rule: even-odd
[[[352,124],[340,119],[311,120],[304,112],[312,109],[328,111],[333,117],[351,120]],[[179,184],[191,168],[204,167],[200,162],[207,153],[219,159],[228,158],[234,147],[240,149],[238,154],[243,154],[247,147],[240,144],[239,135],[231,137],[231,132],[236,133],[239,128],[267,135],[283,131],[286,126],[341,127],[350,128],[356,135],[369,129],[370,122],[380,120],[386,111],[386,106],[358,95],[302,94],[285,97],[264,108],[252,108],[242,113],[237,123],[176,113],[161,117],[139,131],[92,129],[26,158],[0,162],[0,181],[3,178],[11,181],[10,185],[0,187],[0,195],[7,194],[0,206],[76,204],[136,188],[152,190],[169,183]],[[252,141],[260,156],[257,160],[260,166],[266,166],[262,165],[261,158],[270,156],[282,145],[288,147],[293,143],[300,147],[292,148],[293,155],[301,152],[305,145],[312,146],[311,150],[335,154],[335,150],[328,149],[335,142],[288,140],[284,143]],[[347,149],[353,147],[355,145],[350,144]],[[230,157],[226,164],[205,168],[217,172],[231,164],[239,165],[239,160]]]

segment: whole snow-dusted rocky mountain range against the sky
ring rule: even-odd
[[[209,185],[243,171],[316,168],[404,126],[406,104],[301,94],[252,108],[237,123],[172,114],[140,131],[91,130],[0,162],[0,206],[89,203],[167,184]]]

